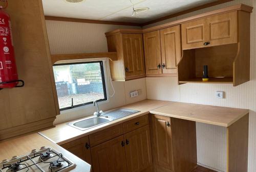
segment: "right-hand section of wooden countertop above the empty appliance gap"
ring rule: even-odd
[[[196,122],[203,122],[216,126],[229,127],[241,117],[248,114],[249,110],[191,103],[170,102],[165,106],[150,110],[150,113],[192,120]]]

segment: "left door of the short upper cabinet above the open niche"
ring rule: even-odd
[[[181,24],[182,49],[204,47],[204,42],[208,41],[205,33],[208,32],[206,18]]]

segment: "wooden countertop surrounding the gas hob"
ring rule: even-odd
[[[39,150],[41,146],[46,146],[55,149],[57,152],[62,153],[65,157],[68,157],[76,164],[76,167],[72,169],[72,172],[90,172],[91,165],[84,162],[77,156],[71,154],[67,150],[61,148],[59,145],[51,142],[50,140],[42,137],[38,133],[10,139],[0,142],[0,162],[3,159],[11,159],[12,156],[25,155],[31,152],[33,149]]]

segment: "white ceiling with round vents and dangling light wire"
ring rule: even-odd
[[[150,8],[136,16],[132,16],[130,0],[85,0],[77,4],[42,0],[42,3],[45,15],[49,16],[144,23],[214,1],[217,0],[132,0],[135,8]]]

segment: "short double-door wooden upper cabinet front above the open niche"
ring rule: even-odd
[[[183,50],[237,43],[237,11],[181,24]]]

